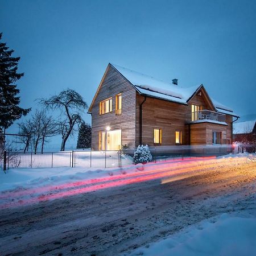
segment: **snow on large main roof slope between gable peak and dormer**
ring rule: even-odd
[[[118,65],[111,65],[131,82],[140,93],[148,96],[186,104],[189,97],[199,88],[199,86],[183,88]]]

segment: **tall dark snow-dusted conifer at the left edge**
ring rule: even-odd
[[[19,89],[16,88],[15,82],[24,75],[17,73],[20,57],[11,57],[14,50],[9,50],[1,39],[2,33],[0,33],[0,126],[7,128],[16,119],[30,112],[30,109],[19,107],[20,97],[17,96]]]

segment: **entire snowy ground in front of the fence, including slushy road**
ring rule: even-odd
[[[255,254],[255,155],[138,169],[1,173],[0,255]]]

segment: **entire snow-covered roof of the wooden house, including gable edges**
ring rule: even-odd
[[[191,100],[191,98],[197,92],[199,92],[200,89],[203,89],[206,97],[208,98],[209,104],[212,105],[212,108],[215,109],[216,112],[229,114],[237,117],[233,110],[210,98],[203,84],[192,86],[189,88],[183,88],[181,86],[154,79],[154,77],[144,75],[137,71],[123,68],[119,65],[109,63],[108,68],[109,66],[113,67],[115,71],[123,76],[123,78],[126,79],[131,84],[131,86],[133,86],[134,89],[137,90],[139,94],[187,105],[189,100]],[[108,68],[106,70],[108,70]],[[104,78],[102,78],[101,83],[103,80]],[[100,89],[100,86],[101,84],[97,89],[96,95]],[[94,99],[96,95],[94,96]],[[94,99],[92,101],[92,104],[90,105],[89,111],[93,105]]]

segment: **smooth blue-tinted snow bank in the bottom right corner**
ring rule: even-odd
[[[255,230],[256,218],[232,217],[225,213],[139,248],[131,255],[256,255]]]

